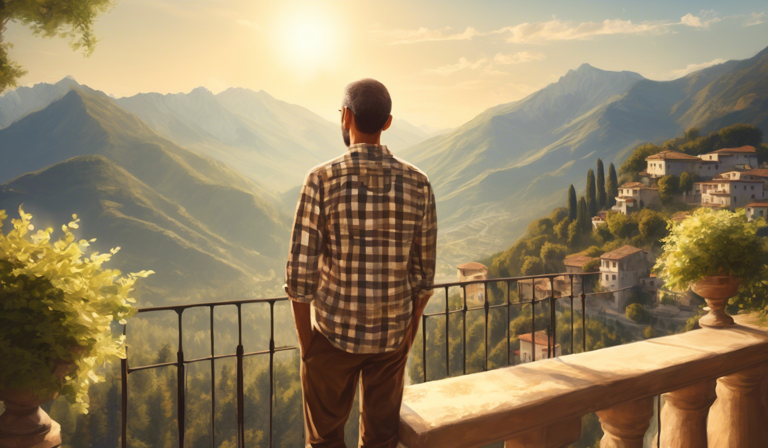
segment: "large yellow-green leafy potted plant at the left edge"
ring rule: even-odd
[[[135,314],[134,282],[152,272],[101,267],[119,247],[85,256],[94,240],[74,237],[76,215],[51,240],[51,228],[32,233],[31,214],[18,212],[3,234],[0,210],[0,445],[57,446],[58,424],[39,405],[61,393],[88,412],[88,386],[104,380],[98,367],[125,357],[111,323]]]

